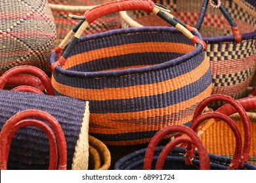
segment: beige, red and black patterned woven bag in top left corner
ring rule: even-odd
[[[1,1],[0,24],[0,76],[18,65],[33,65],[51,76],[56,26],[47,0]]]

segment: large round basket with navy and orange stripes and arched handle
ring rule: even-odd
[[[81,37],[96,18],[127,8],[154,11],[180,31],[142,27]],[[197,103],[211,93],[199,33],[192,35],[147,0],[107,3],[85,12],[87,21],[75,18],[81,23],[51,54],[52,84],[56,95],[90,101],[93,137],[111,145],[143,144],[162,127],[190,125]]]

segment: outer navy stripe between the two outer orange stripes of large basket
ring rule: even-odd
[[[139,112],[154,108],[163,108],[182,103],[204,92],[211,84],[211,70],[199,80],[167,93],[136,97],[132,99],[112,99],[105,101],[90,101],[90,112],[96,114]],[[56,95],[61,95],[56,92]],[[148,104],[148,105],[145,105]]]

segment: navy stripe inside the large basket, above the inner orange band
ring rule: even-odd
[[[179,39],[181,36],[184,39]],[[102,41],[103,38],[104,41]],[[141,42],[180,42],[191,45],[190,40],[173,27],[148,27],[146,29],[144,27],[130,27],[118,31],[110,30],[104,33],[82,36],[70,56],[100,48]]]

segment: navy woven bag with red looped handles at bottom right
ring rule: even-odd
[[[240,108],[241,109],[241,108]],[[242,139],[238,127],[236,124],[224,114],[218,112],[207,112],[198,116],[193,122],[193,128],[197,128],[202,122],[209,118],[218,118],[226,122],[236,137],[234,142],[236,146],[233,148],[234,156],[226,158],[225,156],[217,156],[215,154],[208,154],[210,161],[210,169],[221,170],[221,169],[238,169],[242,164],[240,161],[242,154]],[[161,138],[165,137],[166,134],[171,132],[177,132],[177,129],[170,130],[171,127],[165,127],[156,133],[148,144],[148,148],[138,150],[128,154],[116,162],[115,169],[198,169],[201,165],[198,161],[198,154],[191,149],[191,143],[188,142],[186,148],[177,146],[181,143],[181,137],[186,137],[187,134],[176,137],[173,141],[169,142],[165,146],[157,146]],[[179,126],[184,127],[184,126]],[[190,129],[193,132],[195,129]],[[180,131],[180,133],[184,133]],[[195,133],[195,132],[194,132]],[[195,142],[196,140],[192,140]],[[199,140],[197,140],[199,142]],[[172,143],[173,142],[173,143]],[[175,142],[175,143],[174,143]],[[202,142],[201,142],[202,143]],[[173,151],[171,149],[176,145]],[[155,150],[156,149],[156,150]],[[171,153],[169,153],[171,151]],[[243,163],[243,169],[256,169],[255,165],[251,163]]]

